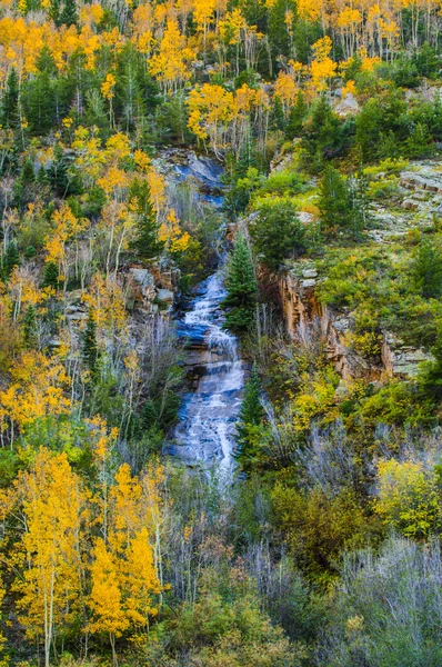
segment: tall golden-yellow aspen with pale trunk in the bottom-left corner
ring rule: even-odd
[[[78,620],[88,496],[66,454],[44,448],[19,474],[13,492],[26,526],[14,556],[21,570],[13,586],[19,620],[29,638],[44,637],[49,666],[54,634],[68,633]]]

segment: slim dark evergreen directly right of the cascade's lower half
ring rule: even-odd
[[[261,379],[254,362],[250,377],[245,382],[235,435],[237,451],[234,457],[243,470],[250,469],[258,437],[257,427],[264,417],[261,395]]]

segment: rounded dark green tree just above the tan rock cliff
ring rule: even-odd
[[[271,270],[304,250],[304,228],[291,201],[263,205],[250,233],[257,252]]]

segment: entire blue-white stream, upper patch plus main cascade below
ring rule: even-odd
[[[189,176],[202,183],[200,197],[209,205],[222,205],[222,168],[209,158],[191,156],[175,165],[179,180]],[[190,467],[215,467],[228,480],[234,467],[234,431],[244,386],[244,366],[237,338],[222,328],[221,302],[225,298],[223,258],[218,270],[201,282],[189,310],[177,322],[178,336],[185,341],[190,390],[183,396],[179,420],[164,447]]]

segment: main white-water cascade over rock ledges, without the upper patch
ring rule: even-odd
[[[219,270],[203,283],[202,293],[179,325],[190,347],[199,350],[198,368],[202,375],[198,387],[184,397],[172,444],[167,449],[191,466],[215,465],[221,476],[229,477],[244,370],[235,337],[222,329],[220,302],[224,297]]]

